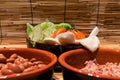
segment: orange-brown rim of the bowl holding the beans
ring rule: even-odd
[[[27,73],[18,73],[18,74],[1,76],[0,80],[1,79],[2,80],[9,80],[9,79],[11,80],[11,79],[19,79],[19,78],[29,78],[29,76],[30,77],[37,76],[38,73],[40,75],[40,74],[46,72],[47,70],[49,70],[50,68],[52,68],[52,66],[55,65],[56,62],[57,62],[57,56],[55,54],[53,54],[52,52],[45,51],[45,50],[33,49],[33,48],[0,48],[0,51],[1,50],[2,51],[6,51],[6,50],[8,50],[8,51],[11,51],[11,50],[36,51],[37,53],[40,53],[40,54],[44,54],[44,55],[47,55],[47,56],[49,55],[50,59],[51,59],[51,62],[47,66],[44,66],[42,68],[39,68],[39,69],[34,70],[34,71],[27,72]],[[34,74],[34,75],[32,75],[32,74]]]

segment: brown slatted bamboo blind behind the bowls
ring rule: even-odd
[[[1,44],[26,44],[26,23],[48,18],[89,33],[97,24],[100,39],[120,44],[120,0],[0,0]]]

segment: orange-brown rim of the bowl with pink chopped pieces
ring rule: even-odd
[[[117,51],[117,52],[120,52],[120,49],[116,49],[116,48],[105,48],[105,47],[99,47],[98,50],[112,50],[112,51]],[[78,73],[78,74],[83,74],[83,75],[88,75],[88,76],[93,76],[93,77],[96,77],[96,78],[104,78],[104,79],[119,79],[120,80],[120,77],[110,77],[110,76],[107,76],[107,75],[97,75],[97,74],[88,74],[87,72],[85,71],[81,71],[80,69],[77,69],[77,68],[74,68],[72,67],[71,65],[67,64],[65,62],[65,57],[67,57],[68,55],[71,55],[71,54],[74,54],[73,52],[84,52],[84,51],[89,51],[89,50],[86,50],[86,49],[75,49],[75,50],[70,50],[70,51],[67,51],[67,52],[64,52],[63,54],[61,54],[58,58],[58,62],[66,69],[70,70],[70,71],[73,71],[75,73]]]

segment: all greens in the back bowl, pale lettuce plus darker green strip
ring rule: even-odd
[[[72,29],[72,26],[68,23],[54,24],[46,21],[35,26],[27,23],[27,35],[34,42],[42,42],[46,37],[52,37],[55,30],[59,28]]]

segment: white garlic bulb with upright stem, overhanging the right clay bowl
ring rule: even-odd
[[[98,49],[100,45],[100,41],[97,37],[98,32],[99,32],[98,27],[95,27],[87,38],[75,40],[75,43],[80,43],[91,52],[94,52]]]

